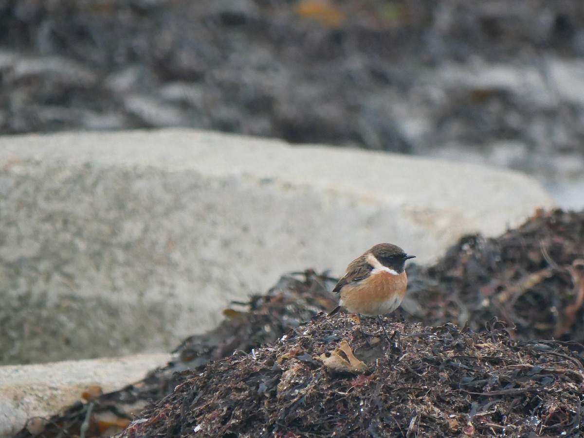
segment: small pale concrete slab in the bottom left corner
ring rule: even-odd
[[[105,393],[118,390],[169,359],[159,353],[0,367],[0,438],[13,436],[30,418],[51,416],[81,400],[93,385]]]

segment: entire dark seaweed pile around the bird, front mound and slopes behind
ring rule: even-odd
[[[85,394],[17,436],[109,436],[133,421],[127,436],[206,436],[211,425],[224,436],[584,432],[583,258],[584,212],[538,212],[496,239],[465,236],[436,265],[408,268],[391,341],[373,321],[364,337],[345,315],[319,315],[338,299],[326,273],[284,275],[144,380]],[[331,370],[323,354],[349,370]],[[353,354],[367,370],[350,369]]]

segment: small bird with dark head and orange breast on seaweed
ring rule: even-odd
[[[339,305],[328,315],[344,308],[358,314],[359,320],[361,315],[376,316],[381,323],[381,315],[401,304],[408,286],[405,262],[415,257],[391,243],[371,247],[349,263],[345,275],[336,283],[332,291],[340,294]]]

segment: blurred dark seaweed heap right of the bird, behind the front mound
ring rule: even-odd
[[[497,317],[517,339],[584,343],[584,211],[538,212],[502,236],[463,237],[408,276],[408,321],[480,331]]]

